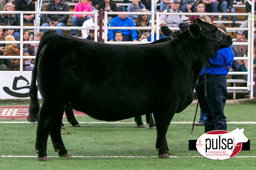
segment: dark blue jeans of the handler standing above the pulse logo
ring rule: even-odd
[[[219,75],[206,80],[207,96],[204,96],[204,80],[198,81],[195,90],[202,113],[207,117],[204,132],[227,130],[224,107],[227,99],[226,75]]]

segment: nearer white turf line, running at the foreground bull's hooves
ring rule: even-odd
[[[58,158],[59,156],[47,156],[48,158]],[[203,156],[169,156],[170,158],[204,158]],[[37,158],[37,156],[15,156],[1,155],[0,158]],[[158,158],[158,156],[70,156],[70,158]],[[234,158],[256,158],[256,156],[236,156]]]

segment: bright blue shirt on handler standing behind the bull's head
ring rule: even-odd
[[[211,57],[206,63],[212,65],[206,67],[206,74],[217,74],[217,75],[226,75],[231,67],[234,58],[234,52],[232,51],[231,46],[228,48],[223,48],[217,51],[213,57]],[[225,66],[225,67],[222,67]],[[199,77],[204,74],[204,66],[199,74]]]

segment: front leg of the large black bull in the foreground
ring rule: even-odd
[[[173,115],[174,114],[170,116],[163,113],[162,114],[154,113],[156,130],[157,130],[156,150],[158,151],[158,156],[160,158],[169,158],[170,152],[167,146],[167,141],[165,136]]]

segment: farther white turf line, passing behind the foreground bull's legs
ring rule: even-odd
[[[0,121],[0,123],[33,123],[28,121]],[[37,122],[35,122],[37,123]],[[68,123],[68,122],[63,122]],[[87,124],[135,124],[135,122],[79,122],[80,124],[87,123]],[[143,122],[147,124],[146,122]],[[171,122],[171,124],[192,124],[193,122]],[[227,124],[256,124],[256,122],[227,122]]]

